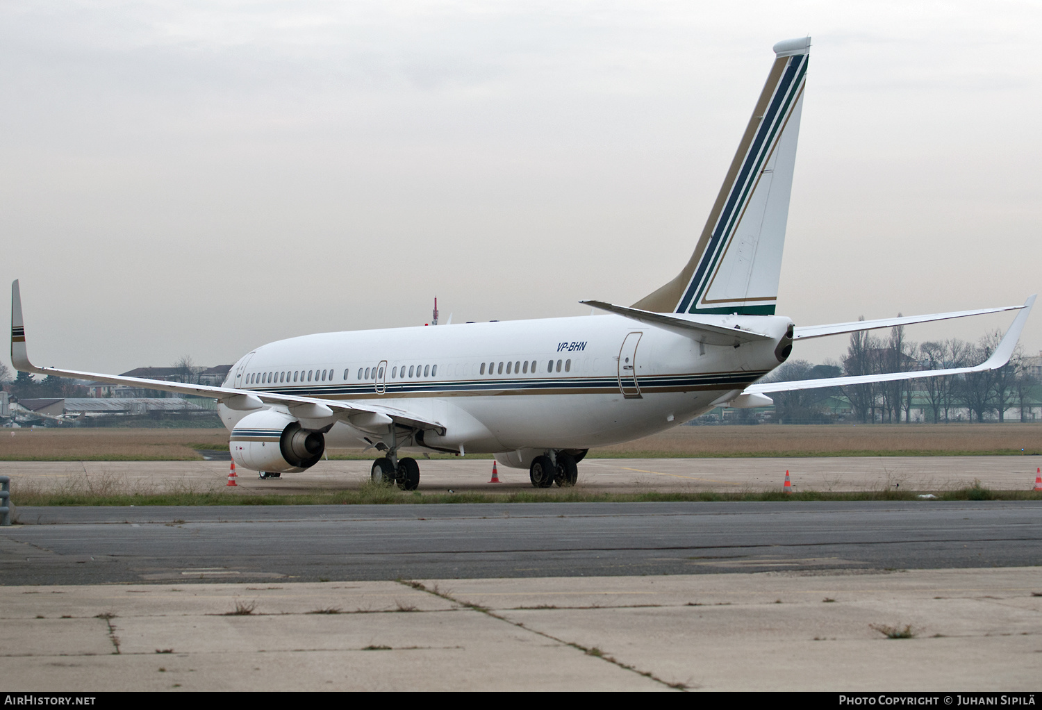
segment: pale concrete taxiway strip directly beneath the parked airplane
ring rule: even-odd
[[[794,490],[863,491],[899,486],[946,490],[979,481],[997,490],[1031,490],[1040,457],[820,457],[763,459],[586,459],[577,486],[596,492],[763,491],[778,489],[790,471]],[[321,461],[301,473],[258,480],[239,470],[228,493],[307,493],[356,488],[369,480],[372,462]],[[0,475],[43,489],[75,486],[115,488],[119,492],[170,488],[210,490],[224,487],[227,461],[72,461],[0,462]],[[490,484],[488,459],[420,460],[422,491],[531,490],[528,471],[498,466],[499,484]],[[16,505],[17,497],[13,496]]]

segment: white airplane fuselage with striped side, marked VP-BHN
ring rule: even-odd
[[[325,333],[253,350],[225,386],[375,400],[444,425],[410,450],[585,449],[685,422],[778,366],[788,318],[719,320],[771,340],[703,344],[615,315]],[[232,431],[248,414],[220,413]],[[376,440],[347,421],[325,437],[329,446]]]

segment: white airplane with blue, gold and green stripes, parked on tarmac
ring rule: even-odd
[[[246,353],[221,387],[36,367],[26,353],[19,285],[11,289],[18,370],[216,398],[231,456],[262,475],[303,471],[326,446],[381,456],[375,480],[420,482],[402,454],[494,454],[531,483],[575,483],[593,446],[669,429],[719,405],[760,407],[769,392],[994,369],[1016,345],[1023,305],[796,327],[774,315],[810,38],[775,59],[688,264],[632,307],[582,301],[605,317],[549,318],[323,333]],[[809,338],[1021,309],[982,365],[754,384]]]

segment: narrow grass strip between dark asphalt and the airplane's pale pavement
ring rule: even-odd
[[[936,500],[1042,500],[1042,491],[998,491],[970,486],[947,491],[744,491],[735,493],[591,493],[577,489],[486,493],[404,492],[395,487],[364,484],[359,488],[299,494],[241,495],[219,491],[171,491],[153,493],[104,493],[27,491],[13,496],[22,506],[319,506],[319,505],[416,505],[468,503],[765,503],[765,501],[847,501],[847,500],[922,500],[921,493],[932,493]]]

